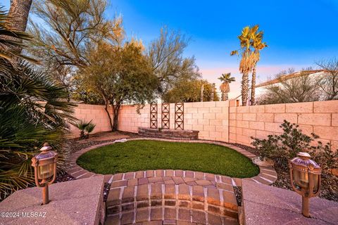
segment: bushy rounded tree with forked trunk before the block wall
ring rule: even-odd
[[[103,42],[89,53],[89,66],[79,72],[83,85],[104,98],[111,130],[118,129],[123,103],[144,104],[154,98],[158,79],[137,41],[113,46]],[[113,109],[113,120],[108,106]]]

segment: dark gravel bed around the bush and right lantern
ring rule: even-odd
[[[238,146],[239,148],[243,148],[244,150],[247,150],[248,152],[253,153],[255,155],[259,155],[256,148],[243,146],[238,143],[230,143],[230,144]],[[273,183],[272,186],[292,190],[292,186],[290,184],[289,171],[285,171],[279,167],[275,167],[275,170],[278,176],[277,181],[275,181],[275,183]],[[322,173],[322,185],[320,188],[319,197],[338,202],[338,176],[334,176],[328,173]]]

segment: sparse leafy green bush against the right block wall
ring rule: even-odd
[[[269,135],[268,139],[256,139],[251,143],[258,150],[261,160],[270,158],[274,160],[279,167],[287,169],[289,160],[296,157],[299,152],[307,152],[315,162],[318,162],[326,172],[328,169],[338,167],[338,151],[332,151],[330,143],[325,145],[319,139],[318,135],[308,136],[302,133],[299,125],[292,124],[284,120],[280,125],[283,134]]]

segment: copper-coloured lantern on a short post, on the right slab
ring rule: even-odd
[[[322,169],[308,153],[298,153],[297,156],[289,162],[291,184],[302,197],[303,216],[310,217],[309,199],[319,194]]]

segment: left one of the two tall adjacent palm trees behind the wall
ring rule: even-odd
[[[246,105],[249,98],[249,72],[253,68],[253,58],[251,49],[251,29],[249,26],[244,27],[242,34],[238,36],[240,49],[232,51],[231,56],[238,55],[241,52],[242,58],[239,63],[239,72],[242,73],[242,105]]]

